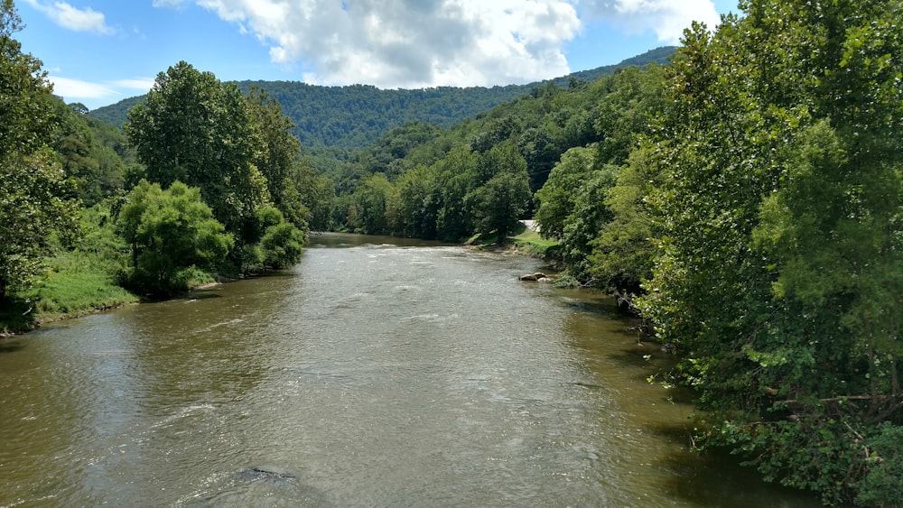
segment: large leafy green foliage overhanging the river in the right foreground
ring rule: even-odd
[[[685,32],[666,80],[640,306],[716,422],[698,442],[825,503],[883,503],[896,466],[870,447],[899,445],[870,436],[903,418],[903,10],[741,8]]]

